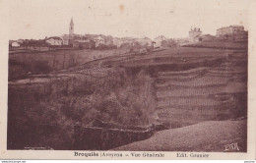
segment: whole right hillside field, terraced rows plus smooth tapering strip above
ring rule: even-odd
[[[173,47],[130,58],[107,63],[119,65],[131,75],[151,74],[158,123],[177,128],[246,117],[246,51]]]

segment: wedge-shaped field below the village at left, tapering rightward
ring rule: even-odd
[[[97,59],[123,55],[128,49],[112,50],[54,50],[22,52],[9,55],[9,81],[28,78],[28,74],[48,74],[67,70]]]

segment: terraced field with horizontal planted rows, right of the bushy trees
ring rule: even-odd
[[[209,55],[212,58],[212,54]],[[195,56],[192,62],[194,59]],[[198,61],[201,59],[199,57]],[[158,72],[155,81],[156,112],[160,123],[169,123],[171,128],[177,128],[202,121],[245,116],[246,52],[224,52],[212,59],[220,59],[219,64],[209,63],[203,67],[199,64],[198,67],[194,65],[192,69],[186,69],[186,65],[191,64],[187,57],[183,70]]]

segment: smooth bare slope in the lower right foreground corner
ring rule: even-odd
[[[161,131],[149,139],[113,150],[131,151],[224,151],[226,144],[236,143],[246,151],[246,121],[209,121],[184,128]]]

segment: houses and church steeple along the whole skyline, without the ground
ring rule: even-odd
[[[75,34],[74,33],[74,22],[71,19],[69,25],[69,34],[64,34],[61,36],[51,36],[45,37],[45,39],[40,40],[40,44],[49,46],[69,46],[73,48],[106,48],[106,47],[116,47],[119,48],[125,45],[141,45],[150,46],[158,48],[161,46],[171,46],[172,44],[184,45],[191,44],[200,41],[212,41],[214,39],[225,39],[224,37],[230,35],[236,35],[235,38],[239,40],[246,40],[248,37],[248,31],[244,30],[242,26],[229,26],[217,29],[217,35],[203,34],[200,28],[191,28],[188,37],[186,38],[173,38],[167,39],[163,35],[158,36],[154,40],[149,37],[144,38],[132,38],[123,37],[117,38],[111,35],[103,34]],[[237,37],[237,35],[239,35]],[[10,46],[19,47],[23,44],[24,40],[19,39],[16,41],[10,41]]]

